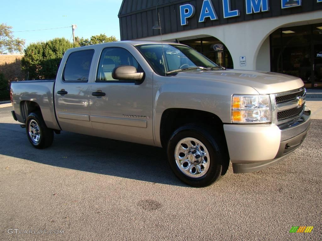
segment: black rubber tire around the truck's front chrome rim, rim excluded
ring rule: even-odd
[[[207,150],[207,155],[209,157],[209,160],[207,160],[207,162],[203,160],[204,159],[203,154],[205,154],[205,152],[198,152],[199,154],[200,153],[202,154],[201,159],[200,157],[198,157],[200,155],[191,157],[192,155],[196,155],[195,153],[194,154],[191,153],[191,151],[194,152],[193,149],[195,148],[194,147],[191,147],[190,149],[189,147],[187,148],[188,150],[187,153],[190,153],[190,154],[186,155],[185,157],[182,157],[181,160],[186,159],[183,162],[188,163],[186,164],[188,169],[192,168],[191,170],[193,171],[196,170],[196,173],[197,173],[195,175],[196,177],[192,177],[194,176],[194,174],[191,173],[191,170],[187,170],[187,169],[184,170],[185,164],[180,165],[179,164],[180,160],[179,161],[176,160],[177,145],[179,145],[179,142],[182,140],[190,141],[189,138],[198,140],[199,143],[201,143],[201,145],[205,147],[205,148],[202,147],[202,149]],[[194,143],[194,141],[192,142]],[[199,151],[199,149],[201,148],[201,145],[196,144],[196,146],[199,146],[196,149],[197,151]],[[180,148],[181,146],[182,144],[180,144],[178,148]],[[178,149],[178,150],[181,150],[181,149]],[[225,149],[222,148],[220,145],[220,138],[216,138],[216,134],[212,132],[210,128],[200,127],[197,125],[186,125],[175,130],[175,132],[169,139],[168,147],[167,147],[168,160],[172,171],[181,181],[194,187],[208,186],[216,182],[221,177],[223,162],[224,162],[223,158],[225,156],[224,151]],[[177,158],[179,158],[180,154],[177,155],[178,156]],[[183,154],[186,154],[186,153],[183,153]],[[195,157],[198,157],[199,159],[196,159]],[[198,160],[200,163],[198,165],[195,165],[194,161],[197,163]],[[207,166],[207,170],[205,166],[203,168],[204,171],[206,171],[205,173],[203,172],[199,173],[200,170],[202,171],[202,168],[198,167],[194,169],[193,167],[194,165],[195,166],[199,166],[199,165],[202,166],[204,164],[207,165],[207,163],[209,163]],[[181,166],[180,168],[179,168],[179,165]],[[188,175],[191,175],[191,176],[188,176]],[[202,175],[202,176],[198,177],[198,175]]]

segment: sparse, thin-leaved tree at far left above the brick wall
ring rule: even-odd
[[[0,24],[0,54],[9,52],[19,52],[21,53],[24,48],[24,40],[19,38],[14,38],[12,27],[6,25],[5,23]]]

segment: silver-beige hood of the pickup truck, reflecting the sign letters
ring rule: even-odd
[[[301,88],[303,81],[294,76],[264,71],[213,70],[178,72],[174,77],[183,79],[226,82],[253,87],[259,94],[274,94]],[[236,93],[247,94],[247,93]]]

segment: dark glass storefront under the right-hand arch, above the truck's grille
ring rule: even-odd
[[[322,88],[322,23],[281,28],[270,35],[271,71]]]

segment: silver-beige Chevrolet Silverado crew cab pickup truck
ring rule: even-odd
[[[230,161],[234,173],[281,161],[310,125],[301,79],[228,70],[170,42],[69,49],[56,80],[13,82],[11,96],[36,148],[62,130],[164,147],[175,175],[196,187]]]

